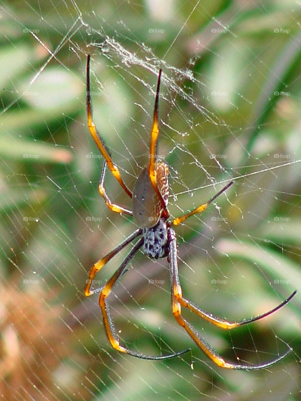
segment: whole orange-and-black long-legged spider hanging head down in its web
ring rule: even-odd
[[[220,196],[224,191],[226,191],[232,184],[231,180],[222,188],[216,195],[214,195],[208,202],[198,206],[193,211],[181,216],[177,217],[173,220],[170,220],[170,213],[168,211],[168,165],[162,161],[156,160],[156,148],[157,148],[157,139],[159,135],[158,129],[158,99],[159,99],[159,90],[160,90],[160,80],[161,80],[162,70],[159,71],[158,76],[158,84],[156,91],[156,100],[155,100],[155,108],[154,108],[154,119],[153,126],[150,138],[150,148],[149,148],[149,163],[147,166],[141,171],[139,174],[133,192],[127,188],[125,183],[123,182],[118,167],[113,164],[111,159],[111,154],[103,142],[99,132],[97,131],[95,124],[92,120],[92,106],[91,106],[91,94],[90,94],[90,55],[87,57],[87,117],[88,117],[88,126],[91,136],[93,137],[95,143],[97,144],[101,154],[105,158],[103,164],[103,170],[101,174],[101,180],[99,183],[99,193],[104,198],[105,203],[111,211],[116,213],[123,213],[129,216],[133,216],[135,223],[138,225],[138,229],[136,229],[129,237],[127,237],[121,244],[119,244],[115,249],[105,255],[102,259],[97,261],[90,270],[89,279],[87,280],[87,284],[85,286],[85,296],[89,297],[93,294],[100,293],[99,295],[99,306],[101,308],[103,323],[105,327],[105,331],[111,346],[120,352],[125,354],[129,354],[132,356],[136,356],[142,359],[165,359],[171,358],[174,356],[178,356],[183,354],[184,352],[188,352],[189,350],[184,350],[182,352],[176,352],[168,355],[161,356],[147,356],[141,354],[139,352],[135,352],[129,350],[126,346],[123,346],[119,342],[119,338],[115,332],[115,325],[111,318],[111,314],[109,311],[109,306],[107,304],[106,298],[112,291],[113,286],[116,284],[117,280],[127,271],[127,264],[131,261],[135,253],[142,247],[142,251],[145,255],[150,258],[158,259],[162,257],[167,257],[169,265],[170,265],[170,279],[171,279],[171,296],[172,296],[172,313],[176,318],[176,321],[180,326],[182,326],[186,332],[190,335],[192,340],[200,347],[204,353],[214,362],[216,365],[222,368],[227,369],[244,369],[244,370],[253,370],[253,369],[261,369],[273,365],[277,363],[279,360],[283,359],[289,352],[291,352],[291,348],[283,354],[278,356],[276,359],[271,362],[264,363],[261,365],[241,365],[235,363],[226,362],[221,356],[219,356],[212,347],[207,344],[199,335],[199,333],[192,327],[192,325],[185,320],[181,315],[181,308],[188,308],[207,322],[214,324],[220,328],[230,330],[232,328],[242,326],[244,324],[248,324],[251,322],[255,322],[256,320],[262,319],[266,316],[269,316],[273,312],[282,308],[287,302],[295,296],[297,291],[295,290],[289,298],[281,302],[278,306],[269,310],[264,314],[256,316],[254,318],[244,319],[239,322],[228,322],[227,320],[220,319],[218,317],[213,316],[211,313],[205,312],[197,305],[184,298],[182,295],[182,287],[180,284],[180,277],[178,271],[178,261],[177,261],[177,242],[176,242],[176,233],[173,226],[177,226],[181,224],[183,221],[188,219],[188,217],[195,215],[196,213],[201,213],[204,211],[210,203],[212,203],[218,196]],[[132,199],[132,211],[126,209],[123,206],[116,205],[111,202],[107,193],[105,191],[105,174],[107,171],[107,167],[111,170],[111,173],[119,182],[127,196]],[[131,248],[119,268],[115,271],[113,276],[109,279],[107,284],[99,289],[92,289],[91,284],[93,283],[93,279],[95,274],[110,260],[112,259],[119,251],[121,251],[124,247],[126,247],[131,241],[135,240],[137,237],[140,239],[135,243],[135,245]]]

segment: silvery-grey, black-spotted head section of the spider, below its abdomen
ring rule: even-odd
[[[168,255],[167,227],[162,219],[153,227],[144,227],[142,235],[144,237],[142,251],[145,255],[153,259]]]

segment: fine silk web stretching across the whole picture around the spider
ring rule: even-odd
[[[164,4],[162,4],[164,3]],[[300,399],[300,5],[297,2],[0,2],[1,354],[5,400]],[[154,92],[158,157],[170,168],[184,296],[230,321],[183,315],[227,361],[216,367],[176,324],[166,259],[141,252],[109,296],[115,352],[90,267],[135,230],[98,193],[103,159],[85,115],[91,53],[94,122],[133,188],[148,161]],[[108,173],[114,202],[129,199]],[[101,287],[129,248],[95,277]]]

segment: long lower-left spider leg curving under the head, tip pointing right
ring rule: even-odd
[[[141,230],[141,229],[139,229]],[[137,232],[139,231],[137,230],[135,233],[137,234]],[[138,235],[138,234],[137,234]],[[126,240],[125,240],[126,241]],[[125,242],[124,241],[124,242]],[[129,242],[129,241],[128,241]],[[121,277],[121,275],[123,275],[123,273],[125,273],[126,269],[127,269],[127,264],[129,263],[129,261],[133,258],[133,256],[135,255],[135,253],[138,251],[138,249],[143,245],[144,242],[144,238],[142,237],[131,249],[131,251],[128,253],[128,255],[125,257],[125,259],[123,260],[123,262],[121,263],[120,267],[117,269],[117,271],[115,271],[115,273],[113,274],[113,276],[109,279],[109,281],[107,282],[107,284],[101,288],[101,292],[99,295],[99,306],[101,308],[101,312],[103,315],[103,323],[105,326],[105,331],[107,333],[107,337],[109,339],[109,342],[111,343],[111,346],[120,352],[124,352],[125,354],[129,354],[132,356],[136,356],[137,358],[141,358],[141,359],[153,359],[153,360],[157,360],[157,359],[167,359],[167,358],[173,358],[174,356],[178,356],[181,354],[184,354],[185,352],[189,351],[189,350],[185,350],[182,352],[175,352],[174,354],[168,354],[168,355],[161,355],[161,356],[148,356],[148,355],[144,355],[144,354],[140,354],[139,352],[134,352],[134,351],[130,351],[128,348],[121,346],[119,344],[119,339],[117,338],[116,335],[116,331],[115,331],[115,325],[113,323],[113,319],[111,317],[110,311],[109,311],[109,306],[107,305],[106,302],[106,298],[107,296],[110,294],[114,284],[117,282],[117,280]],[[124,245],[125,246],[125,245]],[[112,251],[114,252],[114,254],[117,253],[116,248]],[[109,255],[109,254],[108,254]],[[111,256],[112,257],[112,256]],[[93,268],[92,268],[93,269]],[[92,270],[91,269],[91,270]]]

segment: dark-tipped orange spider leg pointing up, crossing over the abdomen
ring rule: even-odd
[[[151,132],[151,140],[149,146],[149,164],[148,164],[148,176],[152,183],[152,186],[160,199],[161,209],[162,209],[162,218],[168,218],[169,212],[166,207],[166,203],[164,198],[158,188],[157,185],[157,172],[155,170],[155,162],[156,162],[156,150],[157,150],[157,140],[159,135],[159,127],[158,127],[158,103],[159,103],[159,91],[160,91],[160,81],[161,81],[161,73],[162,69],[160,68],[159,76],[158,76],[158,84],[157,84],[157,91],[156,91],[156,100],[155,100],[155,109],[154,109],[154,119],[153,119],[153,126]]]

